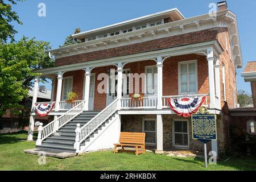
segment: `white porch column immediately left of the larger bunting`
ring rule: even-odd
[[[163,107],[163,58],[162,56],[158,56],[157,65],[158,67],[158,105],[157,109],[162,109]]]

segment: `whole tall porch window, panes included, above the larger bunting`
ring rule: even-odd
[[[179,92],[197,93],[197,63],[184,61],[179,63]]]

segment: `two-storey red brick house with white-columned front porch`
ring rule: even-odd
[[[218,8],[216,15],[192,18],[184,18],[177,9],[166,10],[81,32],[73,35],[81,43],[53,49],[55,67],[35,71],[52,78],[55,102],[49,113],[55,120],[43,127],[36,148],[112,148],[120,131],[129,131],[146,133],[146,144],[158,153],[164,147],[201,150],[203,144],[192,139],[191,119],[177,116],[167,98],[207,96],[204,105],[217,114],[218,135],[209,148],[218,153],[228,149],[229,109],[237,107],[236,69],[242,67],[242,54],[236,15],[226,2],[218,3]],[[102,73],[110,75],[112,69],[114,81],[108,78],[107,86],[102,86]],[[131,73],[145,76],[139,84],[125,82]],[[129,93],[143,93],[143,101],[131,100],[125,92],[131,85],[137,92]],[[117,90],[108,92],[113,86]],[[67,107],[70,91],[79,98]],[[32,108],[28,139],[34,117]]]

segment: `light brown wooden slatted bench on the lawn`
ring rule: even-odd
[[[145,133],[121,132],[119,143],[114,144],[114,154],[118,153],[117,147],[122,147],[122,151],[125,151],[123,147],[135,147],[136,155],[145,154],[145,136]],[[139,148],[143,150],[139,151]]]

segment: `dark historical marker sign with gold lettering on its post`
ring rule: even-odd
[[[192,135],[194,140],[204,143],[204,161],[207,168],[207,143],[217,140],[216,115],[209,114],[207,107],[202,106],[196,114],[192,114]]]

